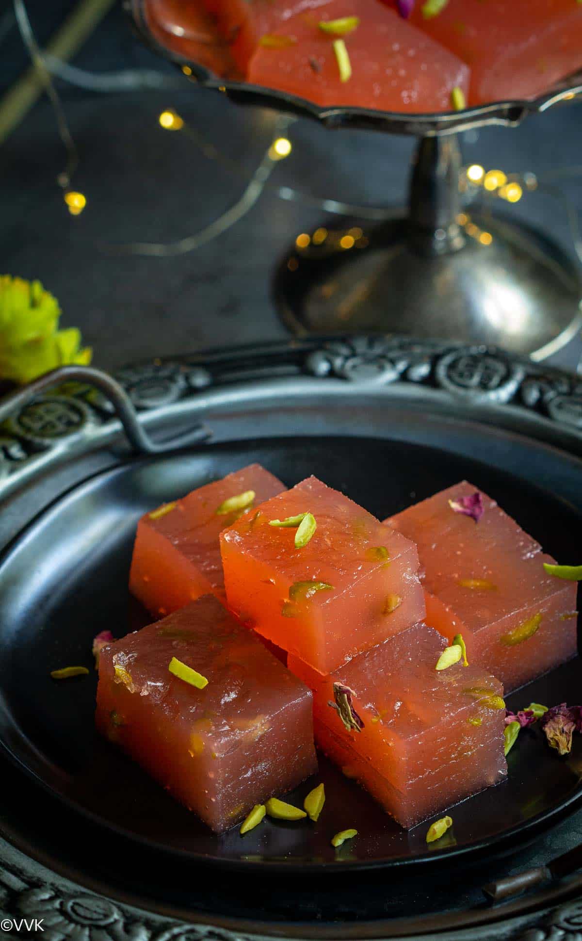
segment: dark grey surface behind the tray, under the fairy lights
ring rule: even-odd
[[[29,0],[40,42],[74,4]],[[0,0],[0,21],[10,8]],[[149,53],[114,8],[73,60],[94,72],[148,67],[176,73]],[[0,43],[0,91],[24,70],[16,27]],[[112,256],[119,242],[173,241],[197,231],[238,199],[244,175],[229,174],[183,134],[162,130],[158,115],[176,108],[217,147],[252,172],[268,146],[275,115],[239,107],[225,96],[186,86],[169,91],[102,94],[57,82],[81,154],[75,188],[87,208],[69,215],[55,183],[62,145],[46,99],[0,146],[0,271],[39,278],[59,298],[63,326],[78,325],[106,369],[134,359],[208,345],[285,336],[270,298],[275,262],[298,231],[322,214],[266,192],[243,221],[209,245],[167,259]],[[517,130],[464,135],[465,161],[506,171],[573,166],[582,152],[582,103],[558,107]],[[325,131],[300,120],[293,152],[272,180],[352,202],[401,203],[414,141],[373,132]],[[582,176],[565,192],[582,204]],[[541,193],[506,211],[524,215],[571,247],[563,208]],[[403,315],[404,316],[404,315]],[[574,365],[579,343],[559,361]]]

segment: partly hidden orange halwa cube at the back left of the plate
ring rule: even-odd
[[[175,502],[169,512],[152,507],[139,520],[130,572],[130,591],[151,614],[164,617],[201,595],[213,592],[224,601],[218,536],[238,513],[217,514],[229,498],[249,490],[254,513],[263,500],[285,489],[259,464],[200,486]],[[171,504],[169,504],[171,505]]]

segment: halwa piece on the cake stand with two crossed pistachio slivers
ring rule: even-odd
[[[349,81],[341,81],[336,37],[318,24],[350,15],[358,16],[360,23],[341,37],[352,70]],[[248,80],[316,104],[450,111],[453,88],[468,94],[468,67],[379,0],[331,0],[323,8],[298,12],[275,36],[294,41],[283,48],[259,46]]]

